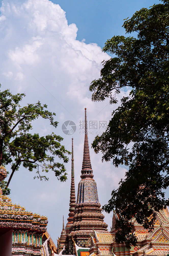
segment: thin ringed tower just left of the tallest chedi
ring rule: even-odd
[[[76,206],[76,196],[75,196],[75,180],[74,180],[74,158],[73,158],[73,138],[72,138],[72,175],[71,175],[71,195],[70,195],[70,204],[69,204],[69,217],[67,219],[66,225],[66,235],[69,233],[69,228],[72,226],[72,219],[74,217],[74,210]]]

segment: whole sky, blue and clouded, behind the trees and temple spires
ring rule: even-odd
[[[102,52],[107,39],[125,35],[123,19],[131,17],[136,10],[149,7],[159,1],[152,0],[4,0],[0,16],[0,82],[1,90],[25,93],[21,102],[48,105],[56,113],[57,129],[47,120],[33,122],[32,132],[45,136],[51,132],[64,138],[63,145],[71,151],[74,138],[75,189],[80,181],[83,158],[85,107],[88,118],[88,137],[91,145],[94,137],[105,131],[112,111],[109,101],[92,102],[89,85],[100,77],[102,61],[110,58]],[[129,91],[122,91],[121,97]],[[76,131],[67,135],[62,131],[65,121],[73,121]],[[68,122],[69,123],[69,122]],[[68,126],[69,127],[69,126]],[[90,146],[91,164],[97,183],[101,205],[108,202],[111,191],[118,188],[126,169],[101,161]],[[70,157],[71,159],[71,157]],[[48,173],[49,181],[33,179],[35,173],[20,168],[11,180],[13,203],[26,210],[48,217],[47,230],[57,245],[68,218],[71,161],[66,164],[68,179],[65,183]],[[105,222],[112,223],[112,213],[105,215]]]

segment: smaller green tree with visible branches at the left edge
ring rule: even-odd
[[[12,171],[8,182],[1,183],[4,194],[10,193],[9,182],[21,165],[30,172],[36,169],[34,178],[40,180],[48,180],[40,171],[47,173],[50,169],[59,180],[67,179],[63,163],[68,162],[66,154],[70,152],[61,145],[63,138],[54,133],[42,137],[29,133],[32,121],[39,117],[49,119],[50,124],[57,127],[58,122],[53,119],[55,113],[46,110],[47,105],[42,106],[39,101],[21,107],[19,102],[23,97],[23,93],[13,95],[9,90],[0,91],[0,165],[10,164]],[[57,162],[55,157],[63,163]]]

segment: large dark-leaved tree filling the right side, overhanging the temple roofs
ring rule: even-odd
[[[101,78],[91,83],[90,91],[93,101],[109,97],[116,104],[122,88],[131,89],[92,144],[96,153],[103,153],[102,160],[128,166],[103,209],[115,209],[116,241],[130,247],[137,241],[132,217],[152,231],[155,212],[169,205],[163,192],[169,186],[169,1],[142,8],[123,27],[137,38],[107,40],[103,51],[114,56],[103,61]]]

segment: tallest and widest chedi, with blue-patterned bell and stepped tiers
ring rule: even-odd
[[[80,247],[88,247],[87,241],[93,228],[97,232],[107,232],[107,224],[104,222],[104,215],[101,204],[98,200],[97,185],[93,179],[93,170],[90,162],[87,117],[85,108],[85,142],[83,151],[83,163],[81,180],[78,185],[77,203],[75,206],[73,224],[69,233],[73,235]]]

